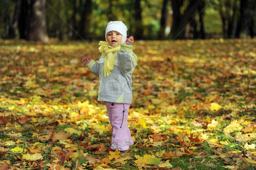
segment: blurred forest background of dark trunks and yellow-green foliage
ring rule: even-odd
[[[102,40],[122,20],[137,40],[254,37],[256,0],[0,0],[0,38]]]

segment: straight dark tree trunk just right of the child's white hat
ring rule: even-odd
[[[141,0],[135,0],[135,23],[134,23],[134,38],[135,40],[141,40],[143,39],[143,26],[142,26],[142,17],[141,17],[141,6],[140,6]]]

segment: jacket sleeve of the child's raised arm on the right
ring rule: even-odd
[[[120,50],[117,52],[118,67],[124,75],[133,72],[137,66],[137,56],[132,51],[132,47],[132,45],[122,43]]]

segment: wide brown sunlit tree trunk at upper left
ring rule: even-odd
[[[45,4],[44,0],[31,0],[31,14],[27,40],[49,42]]]

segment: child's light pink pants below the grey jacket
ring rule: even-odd
[[[130,104],[105,102],[110,124],[113,128],[111,149],[128,150],[134,144],[127,126]]]

